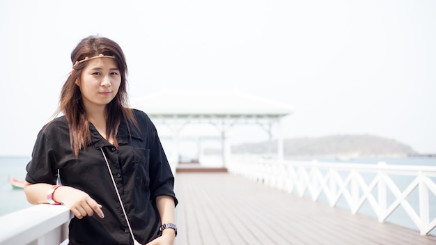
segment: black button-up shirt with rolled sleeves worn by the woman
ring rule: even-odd
[[[172,196],[174,177],[150,118],[134,110],[140,130],[124,122],[116,139],[118,149],[104,139],[90,123],[91,143],[76,157],[70,145],[68,122],[55,118],[38,134],[32,159],[26,166],[26,181],[31,184],[63,185],[88,193],[102,205],[104,219],[97,214],[70,221],[70,244],[132,244],[114,184],[100,149],[104,150],[116,187],[123,200],[135,239],[145,244],[157,237],[161,225],[156,196]]]

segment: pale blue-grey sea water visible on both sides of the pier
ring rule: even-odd
[[[26,165],[30,161],[30,157],[0,157],[0,216],[4,214],[8,214],[10,212],[15,212],[18,210],[22,210],[26,207],[31,207],[26,200],[26,196],[24,195],[24,191],[22,189],[13,189],[10,183],[8,182],[9,177],[13,177],[16,179],[24,180],[26,177]],[[295,159],[294,159],[295,160]],[[310,159],[299,159],[299,160],[310,160]],[[318,161],[337,161],[335,159],[317,159]],[[341,162],[350,162],[350,163],[359,163],[359,164],[377,164],[380,161],[384,161],[389,165],[418,165],[418,166],[436,166],[436,158],[430,157],[405,157],[405,158],[368,158],[368,159],[350,159],[348,161]],[[371,180],[373,176],[368,176],[368,179]],[[394,182],[397,184],[398,188],[403,191],[405,187],[407,187],[410,182],[414,179],[413,176],[393,176],[391,177]],[[436,182],[436,177],[432,177],[433,182]],[[369,184],[367,182],[367,184]],[[388,190],[389,191],[389,190]],[[376,193],[373,193],[375,198],[377,198]],[[394,198],[393,196],[388,196],[389,198]],[[431,192],[429,193],[430,199],[430,220],[436,218],[436,194],[433,195]],[[320,202],[327,200],[322,200]],[[418,193],[415,189],[410,196],[407,198],[407,201],[412,205],[415,212],[419,214],[419,203],[418,203]],[[345,201],[345,198],[341,198],[337,205],[337,207],[342,207],[345,209],[348,208],[348,204]],[[372,207],[366,202],[362,205],[359,210],[359,214],[364,214],[368,216],[373,216],[376,219],[375,213],[373,212]],[[402,207],[398,207],[386,220],[389,223],[395,223],[400,226],[405,226],[412,230],[417,230],[412,220],[408,217]],[[436,230],[430,232],[430,235],[436,235]]]

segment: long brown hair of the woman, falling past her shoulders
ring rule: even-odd
[[[86,148],[88,143],[91,143],[91,133],[89,132],[89,120],[84,111],[84,104],[81,100],[81,92],[75,81],[81,77],[83,68],[88,62],[77,63],[76,61],[84,60],[103,54],[104,56],[114,56],[118,69],[120,70],[121,84],[118,93],[114,100],[107,104],[107,123],[106,132],[107,139],[114,139],[114,145],[118,147],[116,141],[116,127],[124,120],[130,134],[129,121],[138,127],[137,120],[134,118],[132,109],[128,108],[127,95],[127,63],[123,50],[120,46],[110,40],[98,36],[88,36],[79,42],[77,47],[71,53],[71,61],[73,70],[68,76],[67,81],[63,84],[61,90],[61,99],[59,101],[59,109],[57,114],[63,113],[68,120],[70,129],[70,143],[75,156],[79,155],[79,150]]]

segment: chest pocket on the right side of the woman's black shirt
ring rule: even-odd
[[[150,149],[133,149],[135,185],[141,189],[150,186]]]

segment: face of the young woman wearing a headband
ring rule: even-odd
[[[85,109],[106,106],[114,100],[121,84],[120,70],[114,58],[94,58],[86,61],[81,77],[76,81]]]

